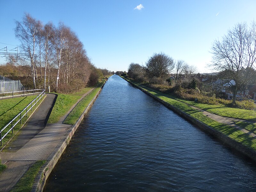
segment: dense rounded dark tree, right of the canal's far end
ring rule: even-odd
[[[172,57],[164,53],[155,53],[146,63],[146,71],[149,77],[166,78],[174,67]]]

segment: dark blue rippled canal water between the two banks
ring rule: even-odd
[[[254,162],[114,75],[44,191],[256,191],[255,179]]]

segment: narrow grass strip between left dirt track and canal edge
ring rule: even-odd
[[[76,121],[79,119],[79,117],[84,112],[84,109],[89,105],[89,103],[92,101],[92,99],[95,97],[97,92],[100,90],[100,87],[103,83],[99,84],[97,88],[95,88],[92,92],[90,92],[88,95],[84,97],[83,100],[81,100],[76,107],[70,112],[68,117],[65,119],[64,124],[75,124]]]

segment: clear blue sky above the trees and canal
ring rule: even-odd
[[[140,4],[144,8],[134,9]],[[164,52],[200,73],[210,72],[212,42],[237,22],[256,19],[255,0],[2,0],[0,5],[0,49],[20,44],[15,20],[27,12],[44,24],[64,22],[92,63],[111,71],[127,70],[131,62],[145,64],[153,53]]]

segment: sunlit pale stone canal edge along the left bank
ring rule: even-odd
[[[55,153],[51,155],[51,160],[46,161],[45,164],[40,168],[40,171],[38,172],[38,174],[37,174],[37,176],[34,180],[34,184],[32,186],[31,192],[38,192],[38,191],[43,191],[44,190],[44,185],[46,183],[47,178],[49,177],[49,175],[51,174],[54,166],[57,164],[58,160],[60,159],[60,156],[62,155],[62,153],[64,152],[64,150],[68,146],[69,141],[71,140],[71,138],[73,137],[73,135],[76,132],[76,129],[78,128],[78,126],[80,125],[82,120],[84,119],[84,116],[87,114],[89,109],[92,107],[94,101],[96,100],[96,98],[100,94],[100,92],[101,92],[103,86],[105,85],[105,83],[100,87],[100,90],[97,92],[95,97],[89,103],[87,108],[85,108],[83,114],[76,121],[76,124],[72,125],[69,128],[69,131],[65,134],[64,141],[56,147],[57,151],[55,150]]]

